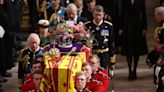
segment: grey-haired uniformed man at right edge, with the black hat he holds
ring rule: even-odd
[[[151,61],[160,61],[160,59],[163,58],[163,53],[164,53],[164,49],[163,49],[164,43],[162,43],[162,39],[160,40],[160,38],[162,38],[162,31],[164,28],[164,7],[163,6],[156,7],[154,10],[154,15],[156,21],[160,24],[160,26],[158,26],[154,31],[155,49],[149,53],[148,55],[149,57],[147,58],[148,60],[151,60],[151,58],[156,57],[155,58],[156,60],[151,60]],[[161,67],[159,66],[158,62],[155,62],[155,64],[156,65],[154,66],[154,83],[157,84],[157,80],[158,80],[157,73],[159,73]]]

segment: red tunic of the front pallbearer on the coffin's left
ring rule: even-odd
[[[25,81],[25,83],[23,84],[21,92],[40,92],[40,91],[36,89],[36,85],[34,84],[33,80],[29,79]]]

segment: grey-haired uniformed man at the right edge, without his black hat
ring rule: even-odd
[[[155,39],[155,51],[157,52],[158,61],[155,66],[155,72],[154,72],[154,82],[158,84],[158,88],[156,92],[163,92],[164,90],[164,64],[163,64],[163,57],[164,57],[164,43],[163,43],[163,37],[162,37],[162,31],[164,31],[164,7],[159,6],[155,8],[154,11],[155,19],[158,23],[161,25],[156,28],[154,32],[154,39]],[[161,39],[162,38],[162,39]],[[155,57],[155,56],[153,56]],[[161,61],[161,62],[159,62]]]

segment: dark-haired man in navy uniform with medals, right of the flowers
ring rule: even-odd
[[[100,66],[107,69],[115,64],[115,41],[113,25],[111,22],[103,20],[104,8],[96,5],[92,12],[93,20],[85,24],[86,28],[95,36],[98,44],[93,46],[93,53],[100,57]]]

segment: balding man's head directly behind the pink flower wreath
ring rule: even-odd
[[[66,20],[68,21],[74,21],[74,24],[78,24],[79,22],[86,22],[87,19],[83,17],[78,16],[77,6],[74,3],[70,3],[67,5],[66,8]]]

